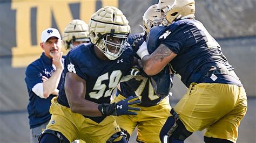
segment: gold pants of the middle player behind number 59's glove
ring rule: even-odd
[[[113,102],[125,99],[124,96],[118,95]],[[143,107],[133,105],[141,110],[137,111],[137,116],[122,115],[115,116],[117,124],[124,128],[130,135],[137,127],[138,141],[142,142],[160,142],[159,133],[164,126],[166,119],[171,116],[171,106],[169,97],[164,98],[157,105],[151,107]]]

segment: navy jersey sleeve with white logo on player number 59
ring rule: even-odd
[[[70,53],[66,55],[64,64],[65,64],[65,70],[67,72],[77,74],[79,77],[83,78],[84,80],[87,79],[86,75],[83,73],[83,71],[79,67],[79,61],[77,61],[76,58],[70,55]]]

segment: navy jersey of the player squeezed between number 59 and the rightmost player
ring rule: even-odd
[[[131,45],[134,40],[138,38],[142,38],[143,34],[144,33],[130,35],[127,41]],[[167,76],[170,77],[169,70],[168,70],[168,73],[166,74]],[[127,82],[120,82],[121,91],[118,91],[118,94],[123,95],[126,98],[129,96],[139,96],[140,100],[142,101],[142,103],[139,104],[140,106],[145,106],[145,107],[154,106],[157,103],[159,103],[164,97],[159,97],[156,95],[156,93],[154,92],[154,88],[151,84],[150,78],[151,77],[139,79],[134,77]],[[167,82],[163,85],[164,87],[170,87],[169,85],[166,85],[166,84],[169,84],[172,86],[172,82],[171,83]],[[165,92],[169,94],[170,90],[166,88],[165,90],[167,90]]]

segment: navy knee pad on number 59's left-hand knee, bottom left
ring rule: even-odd
[[[40,143],[41,142],[65,143],[65,142],[69,142],[69,140],[60,132],[46,129],[40,134],[40,136],[38,138],[38,142],[40,142]]]

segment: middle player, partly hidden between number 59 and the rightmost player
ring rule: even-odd
[[[145,29],[145,34],[138,33],[131,35],[128,39],[131,45],[134,41],[138,39],[144,40],[144,38],[146,38],[145,35],[148,34],[150,28],[159,25],[159,23],[155,19],[160,18],[161,15],[160,12],[156,12],[156,6],[156,4],[150,6],[150,8],[147,9],[144,13],[143,25]],[[134,71],[137,70],[134,69]],[[167,91],[165,92],[169,94],[169,68],[167,68],[166,72],[168,73],[166,73],[166,76],[162,78],[166,79],[169,77],[169,80],[167,80],[167,82],[160,83],[163,83],[161,89],[167,87],[167,89],[165,89]],[[118,87],[117,91],[118,96],[114,98],[114,102],[118,102],[122,99],[129,98],[130,96],[138,96],[142,101],[141,104],[136,105],[136,107],[141,109],[140,112],[138,112],[138,115],[116,116],[115,118],[117,124],[121,128],[124,128],[129,133],[129,135],[131,135],[134,129],[137,127],[138,142],[160,142],[160,130],[163,127],[166,119],[171,116],[169,96],[159,97],[156,92],[154,92],[154,86],[152,86],[151,84],[151,82],[153,82],[152,77],[149,77],[147,75],[144,76],[145,77],[135,76],[127,82],[120,82],[120,87]]]

